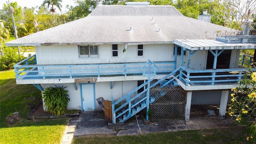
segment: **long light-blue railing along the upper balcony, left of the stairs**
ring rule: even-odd
[[[33,55],[22,60],[14,66],[16,79],[48,79],[48,78],[76,78],[76,77],[101,77],[118,75],[142,75],[146,69],[153,73],[153,66],[142,69],[146,62],[111,63],[111,64],[36,64],[36,56]],[[169,73],[174,70],[174,61],[154,62],[158,67],[156,73]]]

